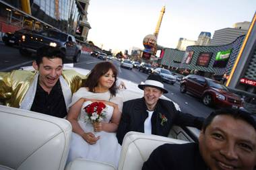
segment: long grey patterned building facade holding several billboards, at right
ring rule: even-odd
[[[225,73],[229,75],[244,38],[245,36],[240,36],[223,46],[187,46],[186,51],[165,48],[160,65],[205,77],[222,76]],[[226,58],[217,57],[221,54],[226,55]]]

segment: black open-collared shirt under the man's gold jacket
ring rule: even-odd
[[[60,81],[57,81],[50,93],[44,91],[38,81],[36,95],[30,110],[58,118],[67,116],[67,108]]]

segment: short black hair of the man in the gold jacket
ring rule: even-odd
[[[64,54],[59,48],[53,47],[53,46],[42,46],[38,48],[36,52],[36,65],[40,65],[42,63],[42,58],[61,58],[61,60],[64,60]]]

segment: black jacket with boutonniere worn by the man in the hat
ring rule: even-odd
[[[164,115],[166,122],[161,124]],[[148,118],[147,107],[144,98],[126,101],[123,104],[123,112],[119,128],[117,130],[117,139],[122,144],[125,134],[129,131],[144,132],[144,122]],[[173,124],[177,126],[193,126],[201,129],[203,118],[197,118],[191,114],[184,114],[177,111],[172,101],[159,99],[151,118],[152,134],[168,136]]]

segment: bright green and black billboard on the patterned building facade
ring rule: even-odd
[[[229,56],[232,52],[232,49],[226,51],[219,51],[216,54],[214,61],[214,67],[224,68],[228,64]]]

